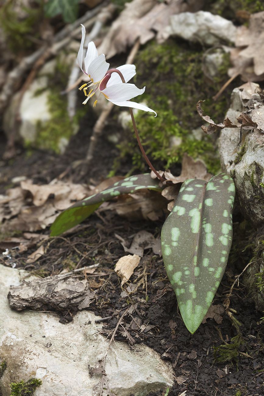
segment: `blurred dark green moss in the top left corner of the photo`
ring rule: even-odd
[[[43,16],[43,1],[35,3],[35,8],[20,5],[27,16],[21,18],[20,12],[16,11],[16,0],[6,1],[0,9],[0,25],[4,30],[9,48],[16,55],[18,51],[30,49],[33,38],[39,37],[39,23]],[[23,13],[24,13],[23,12]]]

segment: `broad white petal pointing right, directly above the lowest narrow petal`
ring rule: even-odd
[[[145,88],[139,89],[135,86],[135,84],[115,84],[115,85],[108,85],[106,84],[106,88],[101,91],[106,99],[117,102],[122,102],[135,96],[142,95],[145,91]]]

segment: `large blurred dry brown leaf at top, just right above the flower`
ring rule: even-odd
[[[125,9],[112,23],[106,34],[99,53],[111,58],[125,51],[137,39],[141,44],[157,36],[158,42],[164,42],[169,34],[165,28],[169,25],[170,16],[182,11],[195,12],[201,7],[199,1],[167,0],[157,4],[156,0],[133,0],[125,4]]]

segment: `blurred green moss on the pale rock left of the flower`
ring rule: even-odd
[[[84,116],[85,109],[77,110],[71,120],[67,111],[67,98],[61,94],[67,85],[69,74],[70,65],[65,61],[65,53],[62,53],[57,57],[54,74],[48,76],[49,82],[45,89],[49,89],[48,109],[51,118],[46,122],[37,123],[36,147],[60,153],[61,146],[66,145],[70,137],[78,130],[78,120]],[[35,94],[39,95],[42,92],[43,89]]]

